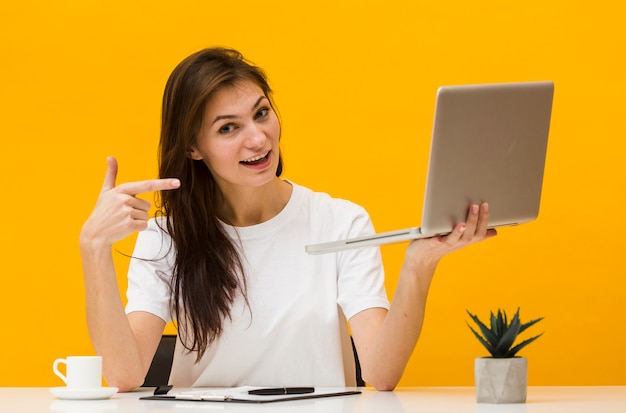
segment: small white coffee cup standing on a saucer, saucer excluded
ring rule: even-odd
[[[59,371],[65,364],[65,374]],[[52,371],[72,389],[96,389],[102,387],[102,357],[69,356],[54,360]]]

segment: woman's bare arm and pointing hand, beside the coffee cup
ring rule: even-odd
[[[112,245],[146,228],[150,203],[135,195],[177,188],[176,179],[155,179],[115,186],[117,162],[108,169],[98,202],[83,225],[80,249],[85,279],[87,325],[110,386],[131,390],[143,383],[165,322],[142,312],[124,312]]]

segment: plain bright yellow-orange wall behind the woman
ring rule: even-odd
[[[466,309],[543,337],[531,385],[626,384],[624,6],[588,1],[5,1],[0,7],[0,385],[53,386],[92,354],[78,234],[105,157],[156,175],[160,99],[188,54],[240,49],[266,69],[285,177],[419,224],[436,89],[554,80],[539,219],[442,262],[401,385],[472,385],[485,355]],[[132,251],[134,239],[117,248]],[[393,293],[406,245],[383,248]],[[125,290],[128,261],[116,254]],[[530,331],[529,333],[530,334]]]

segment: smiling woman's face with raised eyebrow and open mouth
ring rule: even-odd
[[[244,81],[217,90],[204,110],[191,158],[222,189],[258,187],[276,178],[280,123],[262,89]]]

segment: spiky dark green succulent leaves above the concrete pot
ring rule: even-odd
[[[538,339],[543,334],[541,333],[513,346],[515,339],[521,332],[543,320],[543,317],[529,321],[528,323],[522,323],[519,319],[518,308],[515,315],[511,319],[511,323],[509,324],[506,317],[506,311],[498,309],[497,315],[495,315],[493,311],[491,312],[491,326],[487,327],[487,325],[480,321],[474,314],[469,311],[467,311],[467,314],[469,314],[476,325],[478,325],[482,336],[478,334],[469,323],[467,323],[467,326],[470,330],[472,330],[472,333],[474,333],[478,341],[485,346],[487,351],[494,358],[515,357],[515,354],[517,354],[518,351]]]

